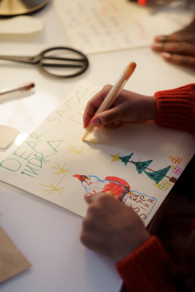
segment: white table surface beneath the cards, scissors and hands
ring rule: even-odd
[[[50,2],[34,17],[44,30],[32,35],[0,36],[0,54],[34,55],[50,46],[71,46]],[[32,65],[1,61],[0,89],[34,82],[31,91],[0,103],[0,124],[30,134],[66,95],[85,79],[98,86],[114,84],[126,65],[136,71],[125,89],[145,95],[194,83],[195,74],[166,63],[150,48],[88,56],[89,68],[79,77],[57,80]],[[17,146],[0,152],[1,161]],[[122,280],[114,260],[85,248],[79,239],[82,218],[39,197],[0,183],[0,225],[31,263],[30,269],[0,284],[2,292],[118,292]]]

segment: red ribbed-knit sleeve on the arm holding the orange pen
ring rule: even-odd
[[[195,134],[195,84],[158,91],[155,123]]]

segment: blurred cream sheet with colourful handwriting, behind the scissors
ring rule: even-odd
[[[86,54],[149,46],[193,17],[183,1],[170,7],[140,6],[129,0],[55,0],[54,7],[73,47]],[[158,23],[158,25],[157,25]]]

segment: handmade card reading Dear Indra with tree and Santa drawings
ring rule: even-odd
[[[82,81],[7,158],[1,181],[86,215],[85,192],[124,196],[147,225],[194,154],[193,135],[153,122],[95,128],[86,141],[82,116],[99,90]]]

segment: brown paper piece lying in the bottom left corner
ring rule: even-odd
[[[0,226],[0,283],[29,267],[30,263]]]

